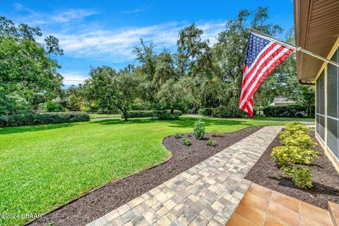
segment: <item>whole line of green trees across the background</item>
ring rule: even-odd
[[[51,55],[62,55],[59,40],[51,35],[41,44],[39,28],[16,26],[0,18],[0,111],[37,109],[50,100],[66,102],[71,110],[121,112],[126,119],[130,109],[216,109],[220,115],[238,117],[242,70],[249,37],[248,27],[268,35],[281,35],[278,24],[268,23],[268,8],[239,11],[230,18],[216,42],[203,38],[203,30],[191,24],[178,33],[177,50],[156,51],[153,42],[133,49],[135,65],[115,70],[109,66],[90,69],[83,85],[61,90],[60,65]],[[285,41],[294,42],[293,29]],[[295,54],[280,64],[262,83],[254,96],[256,107],[267,106],[276,95],[283,95],[314,107],[314,88],[299,85]],[[127,119],[126,119],[127,120]]]

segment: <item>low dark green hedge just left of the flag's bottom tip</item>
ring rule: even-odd
[[[244,117],[246,114],[240,109],[234,109],[229,106],[220,106],[215,108],[202,108],[198,110],[198,114],[216,117],[216,118],[238,118]]]

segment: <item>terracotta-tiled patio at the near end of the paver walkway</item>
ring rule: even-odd
[[[333,203],[334,204],[334,203]],[[333,208],[338,208],[335,204]],[[333,226],[328,210],[251,184],[227,226]]]

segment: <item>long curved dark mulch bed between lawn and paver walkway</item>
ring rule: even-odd
[[[206,160],[220,150],[237,143],[258,129],[261,127],[251,126],[240,131],[225,133],[222,137],[213,137],[218,142],[215,148],[206,145],[206,140],[211,137],[208,133],[206,133],[206,139],[202,141],[196,140],[193,136],[183,136],[181,139],[168,136],[162,141],[162,144],[172,152],[172,158],[167,162],[111,182],[107,186],[92,191],[78,200],[42,216],[29,225],[46,225],[48,222],[53,222],[54,226],[85,225]],[[192,145],[189,147],[183,145],[182,139],[184,138],[189,138]]]

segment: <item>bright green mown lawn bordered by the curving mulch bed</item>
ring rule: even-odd
[[[1,213],[47,213],[86,191],[170,157],[165,136],[191,131],[198,119],[102,119],[0,129]],[[267,121],[202,119],[207,131],[230,132]],[[2,219],[0,225],[28,220]]]

